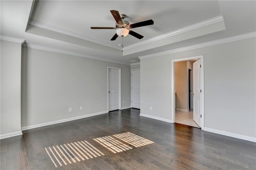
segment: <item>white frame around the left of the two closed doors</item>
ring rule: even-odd
[[[122,102],[121,102],[121,99],[122,99],[122,94],[121,94],[121,73],[122,73],[122,71],[121,71],[121,68],[116,68],[116,67],[107,67],[107,69],[108,69],[108,71],[107,71],[107,98],[108,98],[108,112],[109,112],[109,93],[108,93],[108,91],[109,91],[109,69],[118,69],[118,74],[119,74],[119,76],[118,76],[118,79],[119,79],[119,81],[118,81],[118,109],[119,110],[122,110],[121,108],[122,108]]]

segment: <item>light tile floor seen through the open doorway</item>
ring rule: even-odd
[[[190,109],[189,112],[185,112],[185,111],[175,111],[175,122],[176,122],[176,123],[183,124],[183,125],[188,125],[188,126],[200,128],[200,127],[193,121],[193,109]]]

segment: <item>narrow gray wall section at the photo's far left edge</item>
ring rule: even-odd
[[[21,43],[1,40],[0,135],[20,132]]]

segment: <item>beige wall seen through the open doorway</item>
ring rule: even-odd
[[[175,62],[176,109],[188,111],[187,61]]]

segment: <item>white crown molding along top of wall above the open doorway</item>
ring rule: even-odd
[[[187,50],[191,50],[191,49],[197,49],[197,48],[207,47],[207,46],[211,46],[211,45],[217,45],[217,44],[221,44],[221,43],[233,42],[233,41],[243,40],[243,39],[246,39],[246,38],[253,38],[253,37],[256,37],[256,32],[242,34],[242,35],[234,36],[234,37],[230,37],[230,38],[223,38],[223,39],[220,39],[220,40],[214,40],[214,41],[211,41],[211,42],[205,42],[205,43],[200,43],[200,44],[196,44],[196,45],[190,45],[190,46],[187,46],[187,47],[171,49],[171,50],[163,51],[163,52],[159,52],[159,53],[143,55],[143,56],[140,56],[138,58],[139,59],[145,59],[145,58],[150,58],[150,57],[156,57],[156,56],[159,56],[159,55],[178,53],[178,52],[187,51]]]

